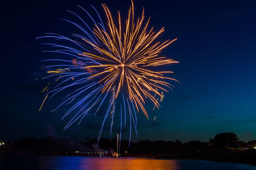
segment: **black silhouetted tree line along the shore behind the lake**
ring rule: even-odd
[[[36,139],[35,137],[19,141],[5,141],[0,147],[3,155],[79,155],[79,156],[111,156],[116,151],[116,138],[102,138],[97,146],[97,139],[86,141],[76,139]],[[256,164],[256,140],[240,141],[236,134],[226,132],[215,135],[209,142],[189,141],[181,143],[173,141],[144,140],[132,143],[122,140],[118,153],[121,157],[154,157],[154,158],[196,158]]]

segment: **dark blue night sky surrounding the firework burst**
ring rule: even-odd
[[[52,135],[85,140],[97,137],[102,115],[88,115],[62,132],[65,108],[51,112],[60,98],[44,100],[47,82],[39,61],[44,46],[35,38],[44,33],[76,33],[60,18],[72,20],[76,5],[101,13],[103,1],[22,1],[1,5],[1,117],[0,139],[17,140]],[[131,1],[104,1],[112,14],[127,15]],[[143,6],[150,26],[164,26],[160,40],[178,38],[163,51],[179,64],[170,66],[175,88],[166,94],[161,109],[148,109],[149,120],[138,113],[138,138],[208,141],[221,132],[234,132],[243,141],[256,139],[256,3],[253,1],[134,1],[136,16]],[[92,10],[91,10],[92,11]],[[73,17],[74,19],[74,17]],[[156,120],[153,121],[156,116]],[[126,135],[125,135],[126,134]],[[124,133],[124,139],[129,139]],[[102,137],[109,136],[109,124]],[[111,137],[115,137],[112,135]]]

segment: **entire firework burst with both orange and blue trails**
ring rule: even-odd
[[[159,56],[161,50],[177,38],[155,42],[157,36],[163,33],[164,28],[157,33],[153,31],[153,28],[148,28],[150,19],[145,20],[144,9],[141,17],[134,19],[133,3],[129,8],[125,25],[122,25],[119,11],[118,22],[115,23],[109,8],[106,4],[102,4],[107,19],[106,27],[93,6],[99,22],[96,22],[84,8],[78,7],[93,22],[92,29],[82,17],[68,11],[80,20],[81,25],[67,19],[63,20],[77,27],[82,34],[72,34],[72,38],[68,38],[56,33],[47,33],[45,36],[38,37],[51,38],[52,41],[57,42],[44,43],[53,49],[45,52],[61,54],[60,58],[43,60],[51,63],[47,66],[49,75],[43,79],[51,79],[54,87],[50,88],[48,84],[42,92],[45,93],[45,99],[60,92],[65,95],[60,105],[56,107],[58,109],[70,104],[62,120],[69,114],[72,114],[72,118],[64,130],[75,121],[81,123],[88,112],[93,110],[94,114],[97,114],[100,107],[103,107],[102,104],[108,104],[99,138],[108,117],[111,118],[111,134],[117,109],[120,113],[120,141],[122,129],[128,125],[126,121],[129,123],[129,141],[131,141],[132,126],[137,134],[136,112],[142,111],[148,118],[144,107],[145,100],[152,101],[154,109],[155,107],[159,109],[159,102],[164,98],[163,92],[168,92],[166,88],[172,89],[172,84],[166,80],[176,81],[166,76],[173,72],[159,72],[156,71],[156,67],[179,63]]]

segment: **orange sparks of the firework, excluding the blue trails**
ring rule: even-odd
[[[133,3],[129,8],[125,28],[122,28],[119,11],[118,24],[115,24],[109,8],[106,4],[102,4],[102,6],[108,18],[109,33],[100,29],[98,26],[95,26],[93,33],[107,45],[111,52],[83,39],[84,42],[92,45],[95,50],[100,51],[104,57],[91,54],[90,52],[83,52],[83,54],[79,55],[103,62],[106,61],[109,64],[91,65],[84,68],[103,67],[103,72],[95,73],[91,78],[97,75],[104,75],[104,79],[100,80],[100,82],[106,83],[106,86],[102,89],[102,93],[104,93],[104,91],[109,91],[117,81],[118,88],[116,90],[115,98],[118,97],[120,88],[124,86],[124,81],[126,81],[125,88],[127,88],[127,91],[129,92],[129,98],[134,102],[137,110],[139,110],[140,107],[148,118],[147,111],[143,106],[143,104],[145,104],[144,98],[150,98],[156,107],[159,108],[160,105],[156,100],[156,95],[162,99],[163,93],[159,93],[158,89],[167,91],[162,88],[161,85],[170,88],[170,83],[164,82],[163,80],[171,79],[176,81],[170,77],[163,76],[163,73],[173,72],[156,72],[152,70],[152,68],[150,69],[150,67],[179,63],[179,61],[158,56],[161,50],[177,40],[177,38],[172,41],[166,40],[163,43],[153,43],[157,36],[163,33],[164,27],[160,29],[158,33],[154,33],[152,31],[153,28],[147,32],[150,19],[147,20],[147,24],[142,28],[143,20],[145,20],[144,10],[141,19],[138,18],[138,20],[135,21]],[[161,79],[162,81],[157,79]],[[153,97],[152,93],[156,95]]]

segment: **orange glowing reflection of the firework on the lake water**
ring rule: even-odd
[[[79,169],[180,169],[178,162],[150,158],[84,158]]]

